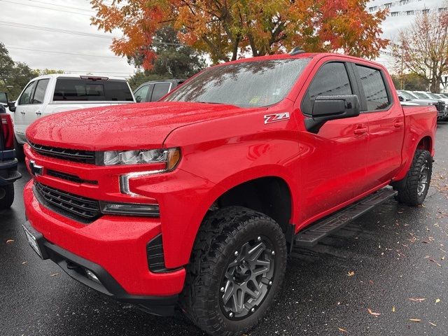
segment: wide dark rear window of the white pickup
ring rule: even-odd
[[[133,102],[124,80],[57,78],[53,101]]]

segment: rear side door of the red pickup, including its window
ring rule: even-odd
[[[353,68],[360,82],[362,110],[368,116],[366,183],[371,189],[391,181],[400,168],[405,118],[382,69],[365,64],[353,64]]]

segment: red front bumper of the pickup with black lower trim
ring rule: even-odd
[[[127,302],[172,302],[181,293],[185,269],[166,273],[148,269],[146,244],[160,235],[159,218],[102,216],[90,225],[83,225],[40,204],[32,186],[33,181],[29,181],[24,190],[29,227],[37,232],[48,258],[67,274]],[[87,279],[85,274],[80,276],[83,272],[76,267],[67,267],[72,263],[94,271],[102,284]]]

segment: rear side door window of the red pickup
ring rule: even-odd
[[[381,71],[359,64],[356,64],[356,69],[367,101],[367,111],[386,109],[391,101]]]

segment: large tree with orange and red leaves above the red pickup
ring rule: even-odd
[[[92,0],[92,24],[120,29],[112,50],[134,55],[139,50],[151,69],[155,31],[179,29],[179,39],[207,52],[213,62],[271,55],[300,46],[309,52],[342,50],[373,58],[388,41],[380,38],[386,10],[367,13],[367,0]]]

